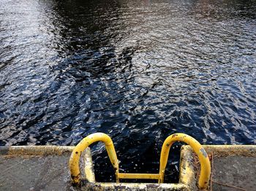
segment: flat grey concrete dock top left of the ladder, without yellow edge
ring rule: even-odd
[[[0,190],[67,190],[69,156],[0,157]]]

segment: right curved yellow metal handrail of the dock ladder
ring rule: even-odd
[[[192,147],[194,152],[197,154],[201,165],[198,186],[200,189],[206,189],[206,187],[208,186],[208,181],[211,176],[210,160],[202,145],[197,140],[184,133],[175,133],[173,135],[168,136],[167,139],[165,139],[165,142],[162,145],[162,151],[160,156],[159,183],[162,183],[164,181],[165,167],[167,165],[170,147],[172,147],[173,143],[176,141],[182,141],[189,144],[190,147]]]

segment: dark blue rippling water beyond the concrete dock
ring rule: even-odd
[[[256,1],[0,2],[0,145],[103,132],[124,171],[154,173],[172,133],[256,144]]]

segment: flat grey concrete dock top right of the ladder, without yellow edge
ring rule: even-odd
[[[214,157],[212,190],[236,190],[221,184],[256,190],[256,158],[246,156]],[[221,184],[217,184],[219,182]]]

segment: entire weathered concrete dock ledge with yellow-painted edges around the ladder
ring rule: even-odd
[[[253,190],[256,146],[203,146],[213,165],[211,190]],[[0,190],[70,190],[69,156],[74,147],[0,147]],[[171,155],[171,154],[170,154]],[[212,163],[214,161],[214,163]],[[83,183],[72,190],[197,190],[200,165],[192,148],[181,147],[178,184],[95,182],[90,149],[80,160]],[[110,167],[111,168],[111,167]],[[210,190],[210,187],[209,187]]]

